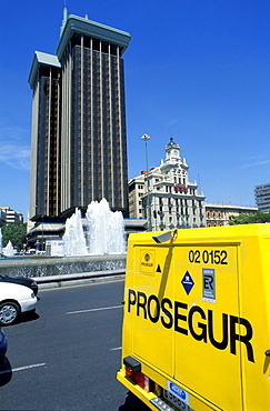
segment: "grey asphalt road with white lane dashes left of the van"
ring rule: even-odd
[[[4,328],[0,410],[144,410],[116,380],[123,282],[39,295],[36,315]]]

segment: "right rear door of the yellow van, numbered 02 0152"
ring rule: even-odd
[[[239,317],[237,247],[176,245],[174,264],[173,377],[222,410],[241,410],[240,355],[230,347]]]

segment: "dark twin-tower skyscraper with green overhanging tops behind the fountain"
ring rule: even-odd
[[[106,198],[128,215],[122,54],[130,34],[63,11],[57,56],[36,51],[30,218]]]

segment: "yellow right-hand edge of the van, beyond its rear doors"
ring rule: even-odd
[[[252,324],[254,353],[250,362],[241,352],[244,411],[270,410],[270,239],[264,227],[241,244],[240,309]]]

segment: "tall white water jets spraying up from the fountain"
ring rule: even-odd
[[[122,254],[126,251],[123,217],[112,212],[106,199],[88,206],[83,234],[80,210],[66,222],[64,255]]]

